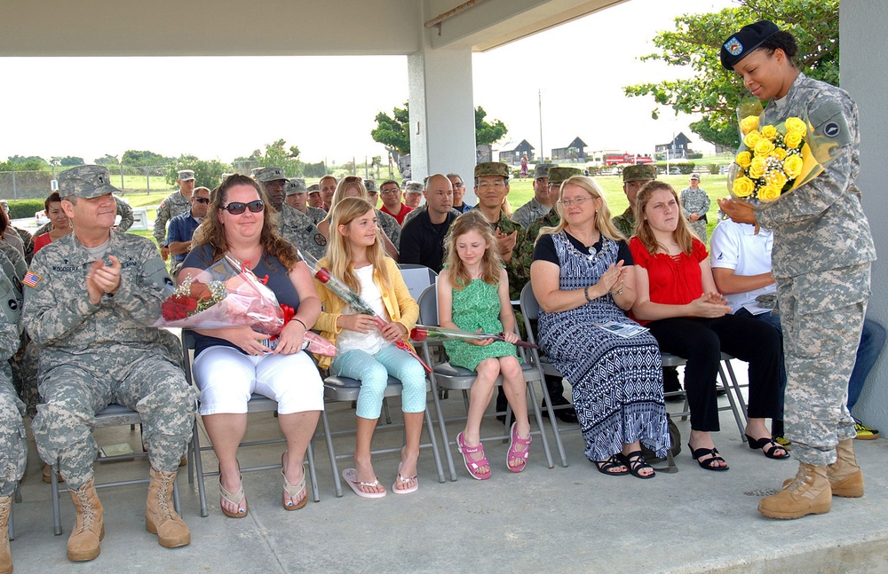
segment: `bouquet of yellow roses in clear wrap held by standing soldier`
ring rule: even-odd
[[[758,100],[741,103],[741,146],[728,172],[731,195],[756,207],[777,201],[821,175],[835,146],[814,134],[805,117],[762,124],[761,109]]]

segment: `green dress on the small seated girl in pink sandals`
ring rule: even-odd
[[[473,279],[462,291],[453,290],[453,322],[463,331],[472,333],[502,333],[503,323],[499,320],[500,302],[496,285]],[[479,347],[462,341],[445,341],[450,364],[475,367],[486,358],[518,357],[515,345],[511,342],[495,341],[487,347]]]

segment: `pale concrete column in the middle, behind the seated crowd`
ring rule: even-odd
[[[423,48],[408,56],[410,161],[413,179],[455,171],[472,196],[475,166],[475,112],[472,99],[472,51]]]

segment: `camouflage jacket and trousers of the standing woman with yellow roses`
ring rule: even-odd
[[[855,436],[847,409],[869,298],[876,248],[854,179],[860,171],[857,105],[828,83],[799,74],[761,124],[796,116],[837,145],[812,182],[762,204],[757,221],[773,230],[772,274],[783,326],[787,388],[785,436],[798,460],[836,461],[836,444]]]

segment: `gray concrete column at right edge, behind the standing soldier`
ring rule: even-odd
[[[854,0],[839,4],[839,37],[842,38],[842,88],[857,101],[860,112],[860,176],[863,208],[869,219],[879,261],[873,264],[872,298],[868,318],[888,326],[888,202],[884,201],[884,154],[888,150],[888,3]],[[865,424],[888,432],[888,352],[883,352],[869,374],[854,413]]]

